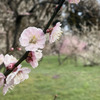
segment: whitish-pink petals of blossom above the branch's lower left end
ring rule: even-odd
[[[13,57],[12,55],[6,54],[4,57],[4,64],[6,67],[8,67],[10,64],[14,64],[17,62],[17,59]]]

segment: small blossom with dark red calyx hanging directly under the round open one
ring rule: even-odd
[[[31,64],[33,68],[38,66],[38,61],[42,58],[42,51],[30,52],[26,61]]]

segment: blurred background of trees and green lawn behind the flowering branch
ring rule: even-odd
[[[29,26],[44,29],[58,4],[59,0],[0,0],[0,53],[20,58],[25,52],[19,44],[22,31]],[[62,37],[50,44],[46,34],[39,67],[7,96],[0,92],[0,100],[99,100],[100,0],[65,0],[50,27],[57,22],[62,23]]]

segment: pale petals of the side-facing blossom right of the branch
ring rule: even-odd
[[[53,28],[52,32],[50,33],[49,42],[50,43],[55,42],[56,40],[60,38],[61,35],[62,35],[61,23],[58,22],[56,26]]]

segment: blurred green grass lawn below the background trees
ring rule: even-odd
[[[0,100],[54,100],[56,94],[56,100],[100,100],[100,67],[75,67],[72,61],[59,66],[56,56],[44,57],[28,80],[5,96],[0,89]]]

